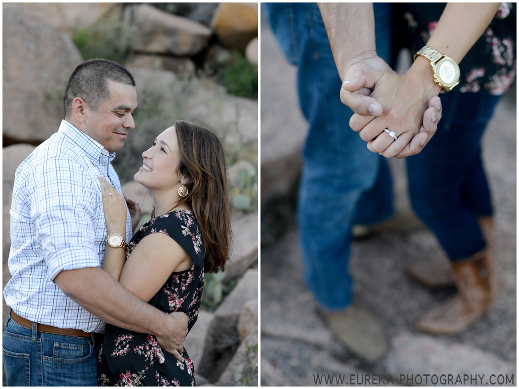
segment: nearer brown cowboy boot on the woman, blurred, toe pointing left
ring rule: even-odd
[[[454,262],[452,272],[459,293],[423,315],[417,327],[432,334],[462,332],[490,308],[493,269],[486,249]]]

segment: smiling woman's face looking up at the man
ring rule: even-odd
[[[175,127],[169,127],[155,138],[155,143],[142,153],[144,163],[133,176],[148,189],[178,189],[181,186],[176,167],[180,162]]]

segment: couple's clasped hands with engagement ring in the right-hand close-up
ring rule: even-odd
[[[366,53],[350,60],[342,76],[340,99],[355,113],[350,127],[368,149],[387,158],[403,158],[427,145],[442,116],[441,88],[434,84],[427,59],[418,57],[405,74],[398,75],[376,53]]]

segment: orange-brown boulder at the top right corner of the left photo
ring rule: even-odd
[[[211,26],[222,44],[243,53],[249,41],[258,36],[258,4],[221,3]]]

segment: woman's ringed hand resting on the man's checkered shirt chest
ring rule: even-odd
[[[126,217],[128,209],[126,201],[119,192],[103,177],[98,177],[103,195],[103,212],[108,234],[118,233],[122,239],[126,237]]]

